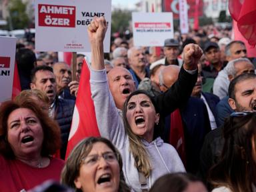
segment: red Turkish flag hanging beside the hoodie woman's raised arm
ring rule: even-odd
[[[91,99],[91,86],[89,80],[89,67],[85,59],[83,59],[79,91],[75,101],[69,141],[67,143],[66,159],[69,157],[69,154],[75,145],[82,139],[85,139],[86,137],[100,137],[93,99]]]

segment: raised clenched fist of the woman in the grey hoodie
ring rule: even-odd
[[[105,17],[93,17],[91,24],[87,27],[87,31],[91,43],[103,43],[107,31]]]

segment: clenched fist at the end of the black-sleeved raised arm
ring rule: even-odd
[[[203,50],[196,44],[188,44],[183,49],[183,67],[187,71],[192,71],[197,69],[197,63],[201,56],[203,55]]]

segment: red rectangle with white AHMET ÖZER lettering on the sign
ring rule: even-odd
[[[39,26],[75,27],[75,7],[63,5],[38,5]]]

